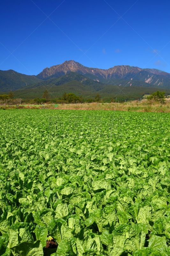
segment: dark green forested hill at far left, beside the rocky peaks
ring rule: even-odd
[[[0,91],[8,92],[15,91],[26,85],[35,84],[40,82],[37,76],[28,76],[20,74],[12,69],[10,70],[0,70]]]

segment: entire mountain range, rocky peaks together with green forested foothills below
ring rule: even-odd
[[[170,74],[158,69],[115,66],[109,69],[88,68],[69,60],[45,68],[37,76],[20,74],[14,70],[0,70],[0,92],[15,91],[15,97],[33,99],[48,90],[51,98],[63,92],[92,98],[97,93],[104,98],[120,96],[137,99],[156,90],[170,94]]]

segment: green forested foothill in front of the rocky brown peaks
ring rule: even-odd
[[[99,93],[103,99],[111,99],[116,96],[118,100],[134,100],[157,90],[155,87],[145,87],[143,82],[139,81],[131,81],[131,84],[132,86],[129,86],[127,81],[123,79],[115,79],[115,85],[103,84],[81,74],[69,72],[57,78],[50,76],[48,80],[25,86],[15,91],[15,96],[22,99],[41,98],[43,92],[48,89],[51,98],[61,97],[64,92],[73,92],[85,98],[95,97]],[[161,87],[159,90],[164,91]],[[166,89],[166,92],[170,94],[170,89]]]

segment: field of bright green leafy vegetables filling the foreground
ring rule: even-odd
[[[169,256],[168,113],[0,110],[0,255]]]

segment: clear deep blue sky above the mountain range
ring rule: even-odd
[[[164,0],[1,0],[0,69],[37,75],[75,60],[170,72],[169,10]]]

